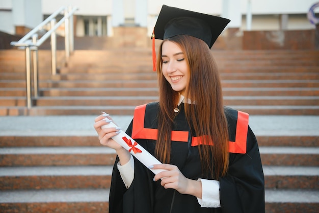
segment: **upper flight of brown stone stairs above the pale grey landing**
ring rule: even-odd
[[[27,109],[24,52],[0,51],[0,115],[92,115],[101,109],[131,115],[158,99],[151,52],[145,48],[76,50],[50,74],[50,53],[39,51],[40,97]],[[318,51],[213,51],[225,105],[250,114],[319,114]]]

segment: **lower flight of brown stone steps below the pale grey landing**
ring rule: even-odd
[[[317,136],[257,136],[266,212],[316,212]],[[96,136],[1,136],[1,212],[108,212],[115,153]]]

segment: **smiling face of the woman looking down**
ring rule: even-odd
[[[174,91],[184,96],[189,83],[190,70],[180,47],[172,41],[164,41],[162,45],[162,74]]]

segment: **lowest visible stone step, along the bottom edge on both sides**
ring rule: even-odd
[[[1,191],[3,212],[87,213],[108,212],[108,189]],[[266,213],[314,213],[319,207],[317,190],[265,190]]]

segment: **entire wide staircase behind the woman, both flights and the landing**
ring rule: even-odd
[[[319,52],[213,53],[225,105],[251,115],[266,212],[317,212]],[[147,49],[75,51],[67,67],[63,54],[52,76],[39,52],[41,96],[26,109],[24,52],[0,51],[0,212],[108,212],[115,153],[94,117],[107,111],[125,129],[136,105],[157,100]]]

